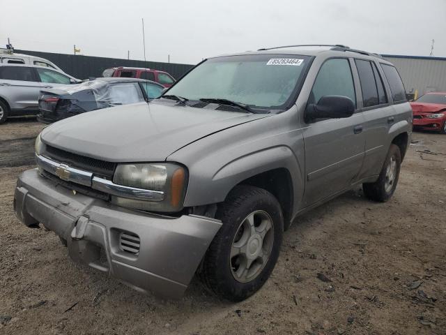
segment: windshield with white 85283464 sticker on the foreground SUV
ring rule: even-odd
[[[293,98],[310,57],[256,54],[208,59],[169,89],[189,100],[218,98],[280,110]]]

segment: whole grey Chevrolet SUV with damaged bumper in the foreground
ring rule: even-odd
[[[375,54],[213,57],[149,103],[45,128],[15,212],[133,288],[180,297],[197,273],[240,301],[299,214],[360,184],[371,200],[392,196],[411,122],[397,70]]]

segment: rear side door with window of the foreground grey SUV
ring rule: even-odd
[[[387,147],[388,124],[392,121],[392,105],[376,63],[368,59],[355,59],[360,82],[360,112],[364,115],[365,157],[358,179],[379,174]]]

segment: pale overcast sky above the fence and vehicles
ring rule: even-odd
[[[196,64],[277,45],[344,44],[446,57],[446,0],[1,0],[0,43],[16,49]]]

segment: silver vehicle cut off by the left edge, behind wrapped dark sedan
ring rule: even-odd
[[[41,89],[78,82],[47,66],[0,64],[0,124],[11,116],[37,114]]]

